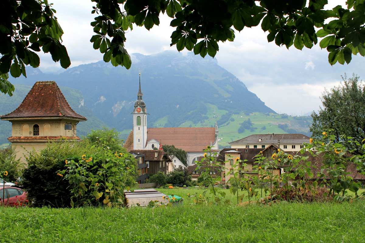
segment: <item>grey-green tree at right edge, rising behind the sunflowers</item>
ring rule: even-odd
[[[319,113],[312,112],[313,124],[310,131],[314,138],[321,138],[323,132],[335,136],[334,141],[347,140],[346,135],[361,144],[365,138],[365,83],[353,74],[352,78],[342,77],[341,85],[325,90],[322,94],[322,107]],[[361,145],[355,153],[361,152]]]

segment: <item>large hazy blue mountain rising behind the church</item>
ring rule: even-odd
[[[215,121],[223,125],[234,114],[275,113],[215,58],[172,51],[131,57],[130,70],[103,61],[68,68],[60,74],[27,68],[27,78],[10,79],[16,85],[14,96],[0,96],[1,104],[8,104],[6,109],[1,105],[0,114],[14,110],[36,81],[54,80],[71,107],[88,118],[78,125],[78,135],[102,126],[125,135],[132,129],[139,72],[150,127],[213,126]]]

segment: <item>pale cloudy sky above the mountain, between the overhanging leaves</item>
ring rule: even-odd
[[[52,2],[52,1],[51,1]],[[333,8],[345,1],[333,1]],[[62,36],[70,59],[71,67],[79,64],[97,62],[103,59],[99,50],[94,50],[89,42],[93,35],[90,22],[93,3],[90,0],[54,0],[55,14],[64,30]],[[160,26],[147,31],[135,27],[126,34],[128,53],[150,55],[165,50],[176,51],[170,47],[170,35],[174,28],[169,26],[171,19],[161,16]],[[216,59],[220,66],[238,77],[247,88],[257,94],[267,106],[278,113],[304,115],[318,110],[320,95],[324,89],[339,85],[341,75],[358,74],[365,79],[365,58],[353,56],[350,64],[328,64],[326,50],[319,45],[312,49],[278,47],[268,43],[267,33],[257,28],[245,28],[236,33],[234,42],[219,44]],[[207,55],[205,58],[211,58]],[[132,63],[133,65],[133,63]],[[42,71],[57,71],[59,63],[54,63],[47,54],[41,55]]]

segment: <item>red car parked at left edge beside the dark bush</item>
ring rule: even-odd
[[[17,187],[0,187],[0,205],[23,206],[28,205],[27,193]]]

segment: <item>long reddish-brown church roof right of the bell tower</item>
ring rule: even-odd
[[[185,152],[203,152],[208,145],[214,144],[215,128],[148,128],[147,142],[151,139]]]

